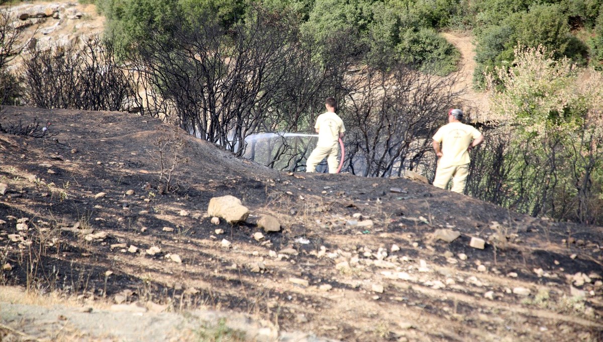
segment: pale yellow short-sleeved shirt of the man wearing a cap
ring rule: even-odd
[[[467,147],[473,139],[477,139],[481,135],[482,133],[479,133],[475,127],[463,124],[463,122],[450,122],[440,127],[434,135],[434,140],[440,143],[443,154],[439,166],[468,164],[471,160]]]

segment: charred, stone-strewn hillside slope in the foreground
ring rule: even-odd
[[[0,124],[36,118],[45,138],[0,134],[5,340],[211,341],[198,309],[253,318],[256,330],[222,330],[233,341],[603,338],[601,227],[410,179],[281,173],[127,113],[4,107]],[[163,191],[160,156],[166,171],[174,153],[186,162]],[[250,209],[244,223],[212,223],[222,195]],[[257,226],[267,214],[282,231]],[[7,285],[84,310],[28,306]]]

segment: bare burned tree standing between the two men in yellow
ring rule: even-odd
[[[347,167],[365,177],[429,168],[431,137],[459,95],[453,77],[437,77],[396,63],[367,66],[350,77],[344,113]]]

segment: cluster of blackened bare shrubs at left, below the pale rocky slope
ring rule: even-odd
[[[33,49],[24,57],[25,97],[40,108],[122,110],[136,97],[133,74],[110,42]]]

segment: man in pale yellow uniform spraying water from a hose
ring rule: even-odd
[[[346,127],[343,125],[343,120],[335,114],[337,103],[334,98],[327,98],[324,106],[327,108],[327,112],[318,115],[314,125],[314,129],[318,133],[318,143],[306,160],[306,172],[316,171],[316,165],[323,161],[324,157],[327,157],[329,173],[337,172],[339,139],[343,139]]]

